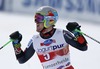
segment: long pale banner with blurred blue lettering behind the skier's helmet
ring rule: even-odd
[[[3,1],[1,0],[1,8]],[[9,2],[8,2],[9,1]],[[5,10],[34,14],[41,6],[56,8],[62,18],[100,22],[100,0],[5,0]]]

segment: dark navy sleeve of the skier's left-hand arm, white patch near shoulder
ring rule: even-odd
[[[21,49],[21,53],[16,54],[16,58],[19,61],[19,63],[22,64],[28,61],[33,56],[34,53],[35,50],[33,48],[33,42],[30,41],[25,51],[22,51]]]

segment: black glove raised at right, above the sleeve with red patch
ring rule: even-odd
[[[78,36],[80,35],[79,32],[76,32],[75,29],[78,29],[80,30],[80,25],[77,23],[77,22],[69,22],[67,25],[66,25],[66,29],[70,32],[72,32],[75,36]]]

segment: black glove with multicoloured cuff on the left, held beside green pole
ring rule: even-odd
[[[12,33],[10,38],[13,40],[12,43],[15,48],[19,48],[21,46],[20,41],[22,40],[22,35],[18,31]]]

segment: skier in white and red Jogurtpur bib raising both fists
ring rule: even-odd
[[[77,22],[69,22],[67,30],[54,28],[58,20],[57,11],[50,6],[40,7],[35,14],[36,30],[26,47],[21,49],[22,35],[18,31],[10,34],[15,55],[19,63],[25,63],[36,52],[43,69],[74,69],[70,62],[69,45],[81,51],[87,50],[84,36],[75,31],[80,30]],[[80,30],[81,31],[81,30]]]

